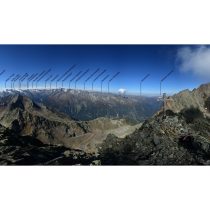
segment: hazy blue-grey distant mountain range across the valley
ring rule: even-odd
[[[13,93],[15,92],[9,92]],[[142,122],[158,111],[161,105],[156,97],[123,97],[111,93],[79,90],[25,90],[21,91],[21,94],[36,103],[83,121],[98,117],[114,117]]]

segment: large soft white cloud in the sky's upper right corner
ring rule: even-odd
[[[210,78],[210,47],[182,47],[177,52],[181,72]]]

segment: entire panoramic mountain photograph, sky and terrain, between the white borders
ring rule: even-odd
[[[209,46],[0,53],[0,165],[210,165]]]

